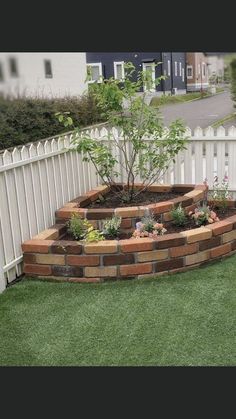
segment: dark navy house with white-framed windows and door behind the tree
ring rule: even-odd
[[[186,57],[184,52],[87,52],[86,62],[91,68],[92,81],[99,77],[124,77],[124,62],[132,62],[139,70],[151,70],[153,80],[160,75],[167,77],[159,86],[153,86],[153,93],[186,93]],[[155,63],[161,62],[157,67]],[[135,74],[135,73],[134,73]],[[135,77],[135,75],[134,75]],[[145,90],[145,86],[141,89]]]

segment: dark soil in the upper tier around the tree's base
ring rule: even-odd
[[[182,195],[184,195],[184,192],[178,194],[172,192],[141,192],[132,200],[132,202],[123,202],[121,201],[120,196],[117,196],[113,191],[110,191],[102,197],[102,200],[97,199],[86,206],[86,208],[120,208],[133,207],[136,205],[148,205],[162,201],[169,201]]]

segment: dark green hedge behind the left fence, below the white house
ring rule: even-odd
[[[0,150],[68,131],[55,118],[56,112],[70,112],[81,127],[103,121],[91,94],[62,99],[0,98]]]

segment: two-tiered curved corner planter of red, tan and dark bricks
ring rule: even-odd
[[[163,214],[167,221],[170,220],[171,208],[177,203],[182,202],[186,211],[190,211],[201,202],[205,192],[204,185],[164,185],[164,188],[179,192],[188,188],[188,191],[174,200],[145,207],[114,210],[81,207],[88,205],[99,194],[106,193],[108,189],[102,186],[68,203],[56,211],[57,223],[54,226],[23,243],[24,272],[30,276],[71,282],[102,282],[107,279],[146,278],[181,272],[234,253],[236,215],[205,227],[165,234],[155,240],[105,240],[90,244],[63,240],[65,223],[74,212],[92,220],[96,227],[106,216],[110,218],[113,214],[119,214],[123,229],[130,230],[147,209]]]

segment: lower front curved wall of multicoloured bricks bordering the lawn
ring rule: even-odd
[[[236,250],[236,215],[155,240],[82,244],[58,240],[64,231],[65,225],[56,224],[23,243],[25,273],[70,282],[149,278],[186,271]]]

